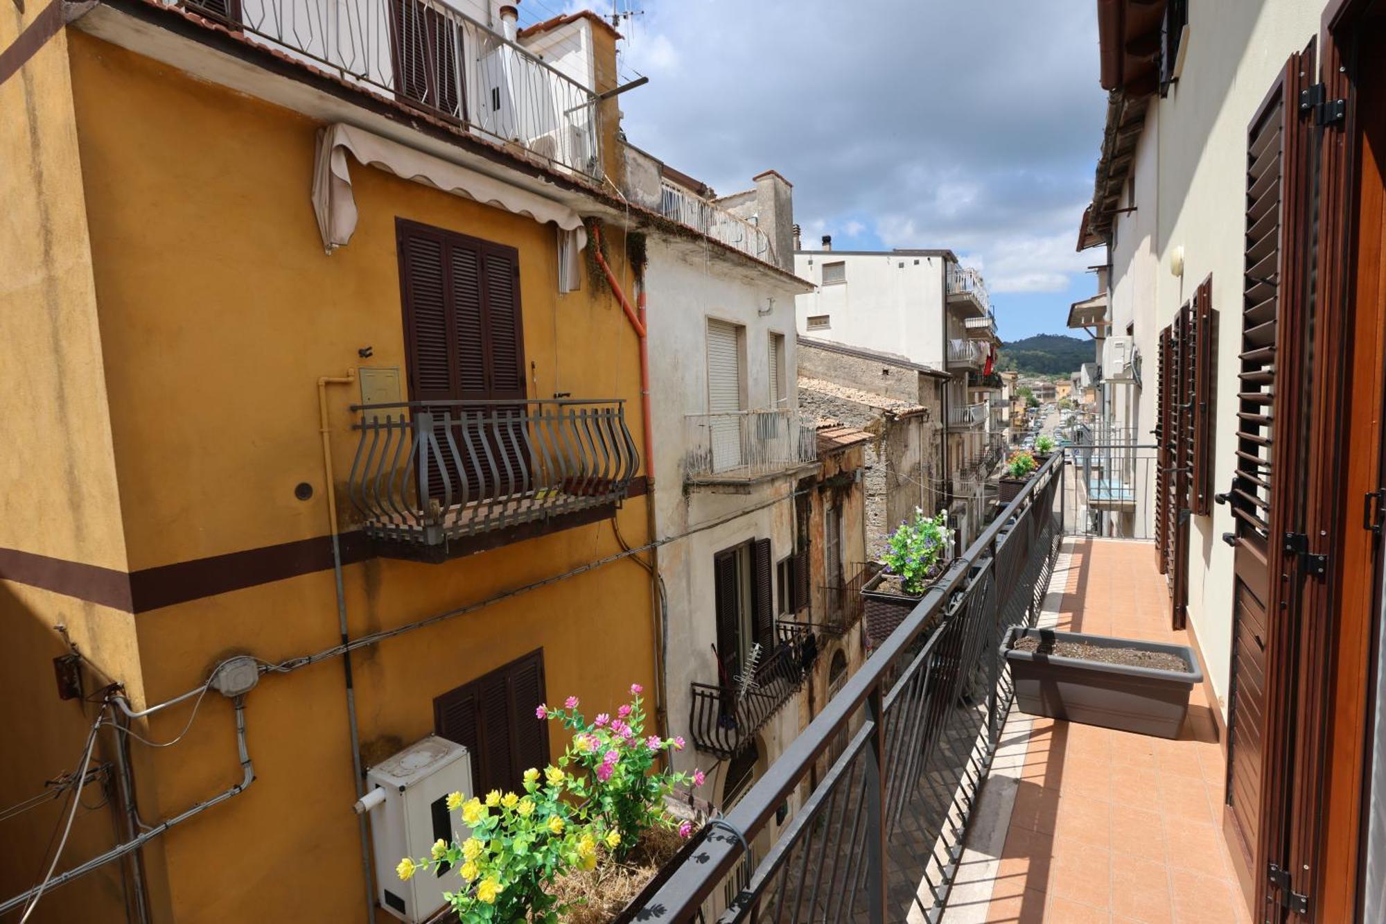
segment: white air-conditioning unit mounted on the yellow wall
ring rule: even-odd
[[[456,870],[419,870],[402,882],[395,873],[403,857],[424,857],[434,841],[463,841],[471,830],[453,828],[448,794],[474,795],[471,755],[459,744],[428,735],[366,771],[366,791],[381,789],[384,801],[370,810],[376,853],[376,898],[409,924],[432,917],[445,905],[444,892],[463,887]],[[460,816],[459,816],[460,819]]]

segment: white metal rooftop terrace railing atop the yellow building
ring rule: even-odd
[[[170,4],[173,6],[173,4]],[[597,99],[520,44],[427,0],[184,0],[363,89],[602,175]]]

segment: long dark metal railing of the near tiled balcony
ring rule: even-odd
[[[726,817],[704,827],[638,920],[937,920],[1010,705],[1001,638],[1034,624],[1063,534],[1060,473],[1056,455]],[[827,774],[772,824],[843,733],[851,738]],[[746,845],[768,831],[773,846],[748,859]],[[704,907],[739,864],[746,887],[725,910]]]

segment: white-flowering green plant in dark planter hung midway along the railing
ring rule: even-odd
[[[862,585],[866,641],[880,644],[919,605],[929,584],[942,576],[952,548],[948,513],[915,515],[887,540],[881,569]]]

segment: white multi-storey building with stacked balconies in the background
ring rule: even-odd
[[[999,337],[981,275],[948,250],[796,250],[796,272],[814,290],[797,300],[798,332],[830,343],[904,355],[945,370],[947,509],[959,548],[994,506],[988,477],[1005,438],[994,375]]]

